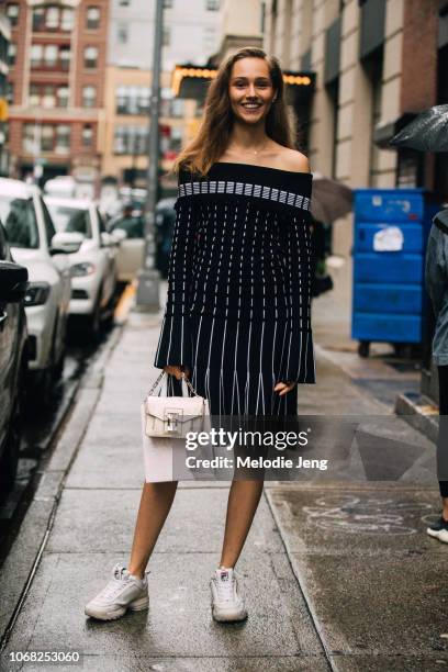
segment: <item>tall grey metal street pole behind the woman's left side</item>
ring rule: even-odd
[[[154,23],[153,83],[149,104],[149,156],[146,197],[145,253],[143,268],[137,275],[136,307],[141,311],[159,310],[159,272],[155,269],[155,214],[158,195],[159,168],[159,113],[161,40],[164,31],[164,0],[156,0]]]

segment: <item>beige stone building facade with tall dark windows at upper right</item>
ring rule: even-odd
[[[306,120],[312,169],[351,187],[424,186],[448,199],[444,159],[388,147],[416,113],[447,102],[447,4],[266,2],[266,49],[285,68],[316,74]],[[348,256],[351,227],[336,222],[333,232],[334,251]]]

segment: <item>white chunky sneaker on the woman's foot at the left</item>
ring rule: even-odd
[[[124,564],[117,562],[107,586],[85,607],[85,614],[100,620],[120,618],[127,609],[142,612],[149,606],[148,579],[130,574]]]

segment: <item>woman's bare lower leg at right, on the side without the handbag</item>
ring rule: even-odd
[[[228,493],[221,567],[235,567],[257,511],[262,485],[262,480],[235,480],[232,482]]]

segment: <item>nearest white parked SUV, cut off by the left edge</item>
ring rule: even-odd
[[[0,178],[0,220],[11,254],[29,271],[25,296],[30,370],[47,399],[53,380],[61,374],[70,300],[69,249],[80,240],[58,236],[37,187]]]

